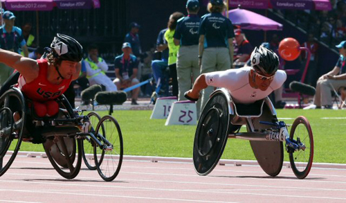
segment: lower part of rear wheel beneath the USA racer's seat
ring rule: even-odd
[[[78,148],[77,161],[75,161],[76,142]],[[44,143],[44,150],[57,173],[66,179],[73,179],[80,173],[82,164],[81,145],[82,140],[80,139],[56,136],[54,140],[48,139]]]

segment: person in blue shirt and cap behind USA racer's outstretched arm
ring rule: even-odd
[[[20,53],[19,48],[24,51],[24,56],[28,57],[28,47],[21,32],[21,28],[15,26],[15,15],[9,10],[3,12],[3,26],[0,27],[0,48],[15,53]],[[0,85],[3,85],[8,77],[13,73],[13,69],[6,64],[0,63]]]

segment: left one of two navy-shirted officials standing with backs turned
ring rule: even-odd
[[[199,43],[199,1],[188,0],[187,17],[178,20],[174,33],[174,44],[180,45],[176,59],[178,76],[178,100],[186,100],[184,93],[191,89],[194,80],[199,76],[198,43]],[[192,80],[191,80],[192,77]]]

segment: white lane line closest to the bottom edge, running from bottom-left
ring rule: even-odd
[[[156,189],[157,190],[157,189]],[[96,196],[96,197],[122,197],[130,199],[143,199],[143,200],[170,200],[170,201],[183,201],[183,202],[216,202],[216,203],[236,203],[236,202],[219,202],[219,201],[207,201],[207,200],[187,200],[187,199],[174,199],[174,198],[159,198],[159,197],[136,197],[125,195],[104,195],[104,194],[90,194],[90,193],[58,193],[49,191],[22,191],[22,190],[0,190],[11,191],[19,193],[48,193],[48,194],[60,194],[60,195],[82,195],[82,196]]]

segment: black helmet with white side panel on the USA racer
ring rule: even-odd
[[[70,36],[57,33],[51,43],[54,57],[60,60],[80,62],[83,58],[83,47]]]

